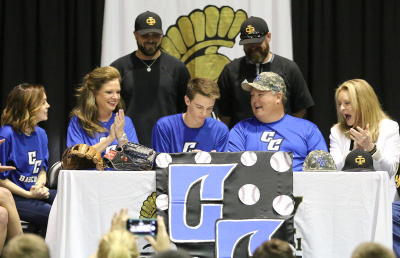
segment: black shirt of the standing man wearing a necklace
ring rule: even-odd
[[[150,65],[154,60],[143,60]],[[147,66],[135,52],[113,61],[111,66],[121,74],[121,98],[126,115],[132,119],[140,144],[151,146],[151,132],[158,118],[186,111],[184,95],[189,71],[179,59],[161,51]]]

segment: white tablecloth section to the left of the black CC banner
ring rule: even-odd
[[[45,239],[50,256],[86,258],[115,211],[129,207],[129,217],[139,217],[142,196],[155,190],[155,171],[60,170],[57,189]]]

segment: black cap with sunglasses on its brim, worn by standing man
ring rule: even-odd
[[[261,43],[269,32],[265,20],[251,16],[241,23],[239,45]]]

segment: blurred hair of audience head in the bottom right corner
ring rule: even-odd
[[[396,258],[396,255],[379,243],[365,242],[355,248],[351,258]]]

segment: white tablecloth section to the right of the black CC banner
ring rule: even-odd
[[[377,172],[293,172],[302,257],[350,257],[364,241],[392,248],[389,177]]]

